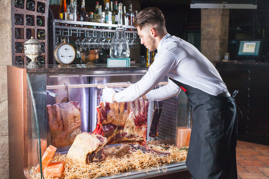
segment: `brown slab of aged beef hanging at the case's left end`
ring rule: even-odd
[[[51,143],[63,147],[73,143],[81,133],[80,103],[77,101],[47,105]]]

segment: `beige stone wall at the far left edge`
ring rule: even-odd
[[[6,65],[12,64],[11,0],[0,0],[0,179],[8,179]]]

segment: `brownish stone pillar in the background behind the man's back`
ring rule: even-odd
[[[229,9],[201,9],[201,52],[211,62],[228,50]]]

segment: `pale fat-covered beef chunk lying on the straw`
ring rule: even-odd
[[[99,134],[83,132],[77,135],[67,157],[82,164],[103,161],[106,158],[103,147],[107,141]]]

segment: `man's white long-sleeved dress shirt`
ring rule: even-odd
[[[115,100],[133,101],[144,94],[148,100],[163,100],[177,95],[180,88],[171,80],[153,89],[165,76],[212,95],[227,91],[214,65],[198,49],[167,33],[159,42],[154,62],[146,74],[134,85],[117,92]]]

